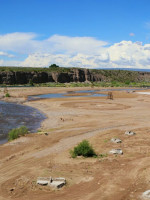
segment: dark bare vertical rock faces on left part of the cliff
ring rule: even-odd
[[[86,73],[85,73],[86,72]],[[24,72],[24,71],[2,71],[0,72],[0,84],[27,84],[47,82],[84,82],[91,81],[91,74],[88,70],[72,69],[69,72]]]

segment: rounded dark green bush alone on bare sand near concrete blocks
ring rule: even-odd
[[[83,140],[80,144],[74,147],[74,150],[70,151],[70,154],[72,158],[76,158],[77,156],[84,156],[84,157],[96,156],[93,147],[89,144],[87,140]]]

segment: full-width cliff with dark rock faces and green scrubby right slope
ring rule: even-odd
[[[0,84],[27,84],[46,82],[85,82],[85,81],[150,81],[149,72],[132,72],[124,70],[88,70],[69,69],[67,72],[60,71],[0,71]]]

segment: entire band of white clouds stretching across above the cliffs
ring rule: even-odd
[[[150,68],[150,44],[121,41],[108,44],[93,37],[53,35],[39,40],[34,33],[0,35],[0,56],[13,57],[8,52],[26,55],[22,61],[0,60],[0,65],[46,67],[56,63],[64,67],[87,68]]]

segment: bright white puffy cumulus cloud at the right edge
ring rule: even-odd
[[[149,68],[150,63],[147,62],[147,59],[149,59],[150,50],[148,47],[148,44],[142,45],[141,42],[122,41],[116,43],[108,50],[111,63],[118,67]]]

